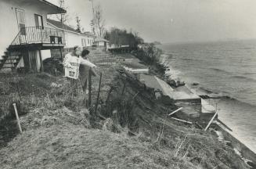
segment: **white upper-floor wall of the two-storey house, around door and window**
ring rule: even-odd
[[[16,9],[25,10],[26,27],[35,27],[34,14],[41,15],[44,26],[46,25],[47,11],[41,8],[40,4],[25,3],[19,0],[1,0],[0,20],[1,23],[4,23],[4,26],[0,27],[0,56],[4,55],[4,52],[16,37],[16,34],[19,33]]]

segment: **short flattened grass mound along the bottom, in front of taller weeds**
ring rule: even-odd
[[[0,156],[2,168],[197,168],[137,137],[77,125],[27,131]]]

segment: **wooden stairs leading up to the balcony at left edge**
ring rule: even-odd
[[[2,58],[0,57],[0,71],[4,70],[14,70],[21,59],[20,52],[10,52],[6,51]]]

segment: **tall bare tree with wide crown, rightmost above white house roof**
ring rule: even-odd
[[[97,36],[103,37],[105,32],[105,20],[103,19],[103,9],[100,5],[97,5],[94,9],[92,27]]]

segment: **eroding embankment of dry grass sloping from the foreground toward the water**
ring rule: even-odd
[[[23,81],[26,85],[20,84],[23,87],[19,90],[27,91],[21,95],[21,105],[27,110],[20,117],[24,132],[0,149],[0,166],[248,168],[211,131],[169,119],[167,113],[176,107],[158,102],[153,89],[146,88],[134,75],[118,65],[101,70],[103,83],[95,121],[85,109],[86,97],[81,85],[78,95],[72,97],[66,79],[48,75],[20,77],[16,82],[20,84],[26,79]],[[28,89],[27,83],[38,91]],[[96,102],[98,85],[96,77],[92,105]],[[16,93],[16,89],[11,92]]]

